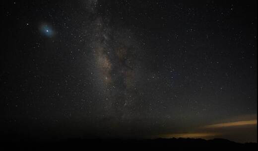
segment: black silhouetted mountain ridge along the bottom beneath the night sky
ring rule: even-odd
[[[225,139],[153,139],[153,140],[121,140],[121,139],[67,139],[60,141],[20,141],[3,142],[5,149],[33,151],[87,151],[91,149],[179,149],[179,148],[209,148],[209,149],[251,149],[257,148],[257,143],[240,144]],[[3,150],[2,150],[3,151]]]

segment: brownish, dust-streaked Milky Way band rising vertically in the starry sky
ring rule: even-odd
[[[92,64],[99,80],[95,88],[101,93],[104,91],[104,115],[123,122],[137,114],[135,76],[140,50],[129,37],[130,33],[110,28],[102,17],[96,18],[93,27]]]

